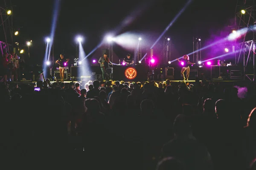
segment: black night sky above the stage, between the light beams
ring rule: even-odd
[[[9,4],[10,0],[6,0]],[[143,50],[149,48],[157,37],[168,26],[175,15],[186,3],[186,0],[60,0],[61,7],[55,30],[54,54],[59,56],[64,51],[67,56],[76,52],[75,36],[85,38],[84,49],[88,54],[103,37],[120,25],[129,14],[139,10],[131,23],[119,31],[137,32],[142,35]],[[12,0],[14,29],[20,28],[15,37],[20,45],[33,40],[30,55],[33,62],[42,64],[45,52],[45,37],[49,36],[52,26],[54,0]],[[233,22],[236,0],[193,0],[184,13],[167,31],[180,55],[193,51],[193,36],[201,37],[202,43],[209,40],[212,34]],[[135,11],[134,11],[135,10]],[[2,32],[0,37],[2,38]],[[161,46],[162,39],[158,43]],[[24,47],[26,48],[26,47]],[[119,57],[125,51],[119,45],[113,50]],[[132,52],[131,52],[132,53]],[[180,57],[180,56],[177,56]]]

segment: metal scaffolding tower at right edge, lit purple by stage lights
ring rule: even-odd
[[[234,27],[248,30],[241,38],[242,40],[236,40],[240,51],[235,59],[236,64],[242,63],[243,65],[244,79],[247,77],[252,81],[255,77],[255,0],[237,0]],[[250,70],[249,66],[252,66],[253,70]]]

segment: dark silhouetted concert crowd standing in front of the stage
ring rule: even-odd
[[[240,99],[198,79],[1,82],[1,153],[19,167],[255,170],[256,84],[244,86]]]

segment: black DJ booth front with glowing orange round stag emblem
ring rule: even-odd
[[[147,80],[147,65],[113,65],[113,80],[138,82]]]

